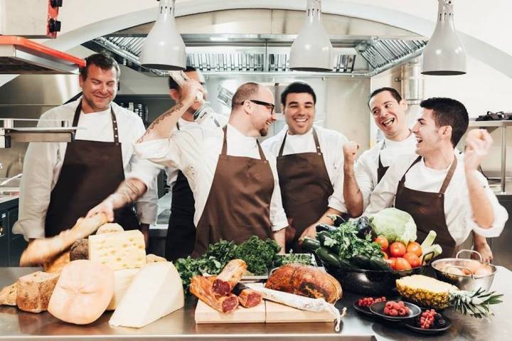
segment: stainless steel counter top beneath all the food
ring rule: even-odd
[[[0,286],[16,281],[35,268],[1,268]],[[498,266],[493,290],[504,293],[504,303],[496,305],[490,320],[462,317],[445,310],[453,325],[448,332],[432,340],[512,340],[512,272]],[[108,324],[111,313],[95,323],[80,326],[64,323],[49,313],[25,313],[16,307],[0,307],[0,340],[425,340],[425,335],[401,328],[394,323],[378,323],[358,315],[352,308],[359,296],[345,293],[338,308],[347,307],[340,333],[331,323],[254,323],[230,325],[196,325],[195,298],[187,298],[185,308],[175,311],[141,329],[113,328]]]

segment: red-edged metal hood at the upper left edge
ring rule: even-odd
[[[0,36],[0,74],[78,74],[85,60],[17,36]]]

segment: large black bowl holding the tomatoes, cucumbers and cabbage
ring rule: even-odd
[[[396,280],[403,276],[423,274],[427,265],[415,269],[393,270],[363,270],[336,268],[322,261],[327,272],[334,276],[344,291],[361,293],[365,296],[398,296]]]

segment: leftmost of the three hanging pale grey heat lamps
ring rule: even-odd
[[[159,70],[185,70],[185,43],[174,20],[176,0],[159,0],[159,15],[140,55],[141,65]]]

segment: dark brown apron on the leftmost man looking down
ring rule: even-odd
[[[73,126],[78,126],[82,102],[78,104]],[[117,190],[124,180],[122,150],[117,119],[110,107],[114,142],[75,140],[68,143],[60,175],[50,195],[46,212],[46,237],[73,227],[79,217]],[[114,221],[124,229],[138,229],[132,205],[114,212]]]

